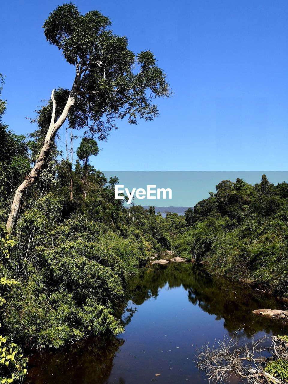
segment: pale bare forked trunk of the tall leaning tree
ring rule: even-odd
[[[58,129],[62,126],[62,124],[65,122],[68,112],[73,106],[75,98],[77,96],[77,88],[79,85],[79,75],[76,76],[73,84],[73,88],[70,92],[70,95],[68,97],[67,103],[59,117],[59,119],[55,122],[55,111],[56,111],[56,102],[54,99],[54,89],[51,93],[51,100],[53,101],[53,110],[52,110],[52,117],[50,126],[48,128],[48,132],[45,137],[45,141],[43,144],[43,147],[41,149],[40,155],[35,163],[35,166],[31,169],[30,174],[28,174],[25,177],[25,180],[22,182],[22,184],[19,185],[17,188],[14,199],[11,206],[11,211],[7,220],[6,229],[7,232],[10,233],[13,227],[13,224],[17,221],[18,218],[18,212],[21,205],[22,195],[24,192],[33,185],[40,176],[40,172],[43,169],[43,166],[45,164],[46,158],[48,157],[50,150],[51,150],[51,141],[54,139],[56,132]]]

